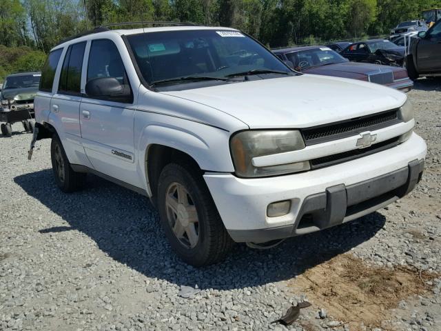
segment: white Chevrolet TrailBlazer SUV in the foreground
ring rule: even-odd
[[[31,146],[52,139],[61,190],[90,172],[145,194],[192,265],[378,210],[415,187],[426,154],[406,94],[299,74],[231,28],[65,41],[35,113]]]

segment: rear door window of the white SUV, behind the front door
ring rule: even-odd
[[[61,68],[59,92],[80,94],[85,41],[69,46]]]

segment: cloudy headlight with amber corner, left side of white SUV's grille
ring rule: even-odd
[[[234,134],[230,141],[236,174],[239,177],[265,177],[309,170],[309,161],[256,167],[254,157],[291,152],[305,148],[297,130],[249,130]]]

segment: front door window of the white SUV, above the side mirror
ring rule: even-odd
[[[113,41],[108,39],[94,40],[90,46],[87,81],[101,77],[113,77],[121,84],[127,83],[119,50]]]

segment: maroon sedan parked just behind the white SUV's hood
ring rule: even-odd
[[[292,63],[292,68],[298,72],[370,81],[403,92],[413,88],[413,81],[407,76],[405,68],[349,62],[325,46],[283,48],[273,52],[290,66]]]

